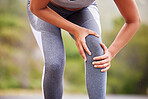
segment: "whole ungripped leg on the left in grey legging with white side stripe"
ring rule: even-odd
[[[65,50],[60,28],[46,23],[28,9],[32,32],[44,58],[42,91],[44,99],[62,99]]]

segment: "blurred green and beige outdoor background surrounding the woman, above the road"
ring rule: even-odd
[[[97,0],[107,47],[124,24],[113,0]],[[112,60],[107,94],[148,95],[148,0],[136,0],[142,19],[133,39]],[[0,0],[0,94],[41,91],[43,59],[30,29],[27,0]],[[66,50],[64,92],[87,93],[85,68],[75,41],[62,30]]]

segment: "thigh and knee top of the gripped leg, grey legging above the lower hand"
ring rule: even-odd
[[[88,7],[85,7],[82,10],[78,11],[77,13],[70,15],[69,17],[67,17],[67,20],[69,20],[81,27],[93,30],[96,33],[98,33],[100,35],[99,38],[95,37],[94,35],[88,35],[86,37],[86,44],[87,44],[89,50],[92,52],[91,57],[103,54],[103,49],[100,46],[100,43],[102,42],[100,14],[98,11],[96,1],[94,1]],[[72,34],[70,34],[70,35],[73,37]]]

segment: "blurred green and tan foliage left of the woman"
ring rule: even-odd
[[[0,1],[0,89],[40,88],[35,78],[41,78],[42,62],[36,63],[33,56],[36,42],[26,23],[26,11],[17,8],[20,6],[25,8],[19,0]]]

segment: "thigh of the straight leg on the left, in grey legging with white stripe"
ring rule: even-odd
[[[65,57],[65,51],[61,29],[38,18],[30,11],[29,6],[30,0],[28,0],[27,5],[28,19],[44,60],[53,61],[52,63],[59,59],[62,61]]]

